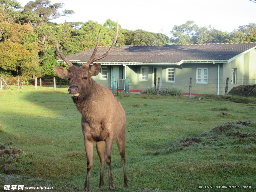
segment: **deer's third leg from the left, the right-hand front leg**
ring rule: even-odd
[[[114,186],[114,181],[111,173],[111,151],[112,151],[112,146],[113,146],[113,140],[110,138],[107,138],[105,140],[105,145],[106,145],[106,154],[105,154],[105,161],[108,166],[108,173],[109,173],[109,189],[115,191],[115,186]]]

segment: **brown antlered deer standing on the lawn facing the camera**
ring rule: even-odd
[[[128,187],[128,180],[125,169],[125,112],[120,102],[113,96],[112,92],[98,83],[92,76],[100,72],[100,63],[90,64],[96,60],[106,57],[115,46],[118,37],[118,24],[116,35],[109,50],[102,56],[95,57],[100,42],[100,34],[94,51],[89,61],[81,67],[74,66],[65,58],[59,50],[58,42],[56,45],[57,55],[67,63],[69,70],[65,67],[55,66],[54,69],[60,78],[68,78],[69,93],[78,111],[82,114],[82,132],[84,136],[84,146],[87,156],[87,175],[84,183],[84,191],[89,190],[89,177],[92,169],[93,143],[100,157],[101,172],[100,184],[102,187],[104,164],[106,161],[109,175],[110,190],[115,190],[111,173],[111,150],[115,140],[121,155],[124,172],[124,185]]]

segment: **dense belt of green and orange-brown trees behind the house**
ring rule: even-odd
[[[95,46],[100,31],[100,46],[109,46],[115,36],[116,23],[110,19],[101,25],[83,22],[52,23],[50,20],[74,14],[73,10],[59,11],[63,3],[35,0],[24,7],[16,0],[0,0],[0,74],[10,76],[55,75],[57,65],[55,46],[58,39],[65,56]],[[174,26],[172,38],[162,33],[122,29],[119,25],[117,45],[163,45],[256,41],[256,24],[239,26],[231,33],[209,27],[199,27],[194,21]],[[59,65],[59,64],[58,64]],[[64,64],[62,64],[64,65]]]

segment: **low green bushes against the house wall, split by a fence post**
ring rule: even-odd
[[[150,87],[145,89],[142,94],[154,94],[156,95],[157,88],[156,87]],[[182,95],[181,90],[175,88],[175,87],[163,87],[159,89],[159,95],[166,95],[166,96],[180,96]]]

